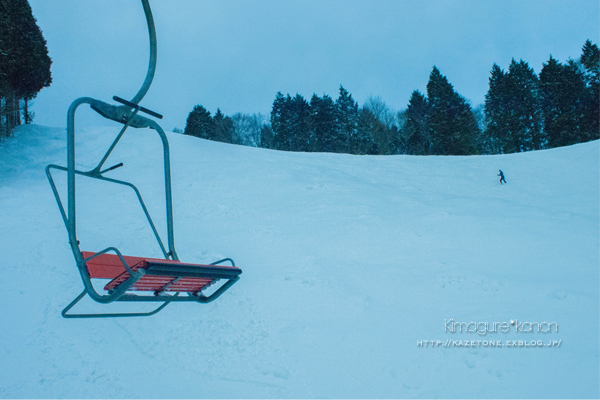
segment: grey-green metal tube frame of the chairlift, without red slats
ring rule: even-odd
[[[193,264],[179,264],[166,262],[161,264],[160,262],[156,262],[154,260],[153,263],[150,264],[150,267],[144,269],[140,268],[134,271],[131,266],[126,262],[125,257],[121,254],[121,252],[116,247],[107,247],[106,249],[99,251],[87,258],[84,257],[80,247],[79,240],[77,240],[77,227],[76,227],[76,199],[75,199],[75,176],[82,175],[89,178],[94,178],[106,182],[116,183],[119,185],[124,185],[130,187],[135,192],[140,205],[146,215],[146,218],[150,224],[152,232],[160,246],[160,249],[165,257],[165,260],[176,260],[179,258],[177,256],[177,252],[175,251],[175,238],[174,238],[174,229],[173,229],[173,204],[172,204],[172,196],[171,196],[171,162],[169,156],[169,142],[167,140],[167,136],[160,125],[149,118],[138,115],[138,113],[143,112],[148,115],[151,115],[156,118],[162,118],[162,116],[154,111],[148,110],[139,105],[139,102],[146,95],[148,89],[150,88],[150,84],[154,78],[154,72],[156,70],[156,30],[154,27],[154,20],[152,18],[152,11],[150,9],[150,5],[148,0],[141,0],[142,6],[144,8],[144,13],[146,15],[146,21],[148,24],[148,32],[150,36],[150,62],[148,65],[148,72],[146,74],[146,78],[142,87],[138,91],[138,93],[133,97],[131,101],[124,100],[120,97],[114,96],[113,100],[121,103],[122,105],[116,106],[105,103],[100,100],[93,99],[91,97],[81,97],[73,101],[69,107],[67,113],[67,167],[50,164],[46,167],[46,175],[50,182],[50,186],[52,187],[52,191],[54,193],[54,197],[56,198],[56,202],[58,204],[58,208],[60,210],[61,216],[67,228],[67,232],[69,235],[69,244],[71,245],[71,250],[73,251],[73,255],[75,257],[75,261],[77,263],[77,268],[81,275],[81,279],[83,281],[84,290],[81,292],[79,296],[77,296],[67,307],[62,311],[62,316],[65,318],[104,318],[104,317],[138,317],[138,316],[150,316],[156,314],[163,308],[165,308],[171,302],[179,302],[179,301],[192,301],[198,303],[209,303],[223,294],[227,289],[229,289],[238,279],[241,274],[241,269],[235,266],[235,263],[230,258],[225,258],[219,261],[215,261],[210,265],[193,265]],[[124,124],[123,128],[108,148],[106,154],[98,163],[98,165],[90,171],[81,171],[75,169],[75,112],[78,107],[83,104],[89,104],[90,107],[98,112],[103,117]],[[102,169],[104,163],[110,156],[111,152],[129,127],[134,128],[151,128],[155,130],[160,139],[162,141],[163,146],[163,163],[164,163],[164,177],[165,177],[165,199],[166,199],[166,222],[167,222],[167,248],[163,244],[163,241],[156,230],[154,222],[150,217],[148,209],[142,199],[140,191],[131,183],[125,182],[118,179],[107,178],[103,176],[106,172],[112,171],[116,168],[123,166],[122,163],[114,165],[110,168]],[[54,179],[52,178],[51,170],[59,170],[67,172],[67,192],[68,192],[68,200],[67,200],[67,210],[63,206],[62,200],[60,198],[59,192],[56,188],[56,184],[54,183]],[[127,271],[130,277],[119,285],[115,290],[109,292],[108,294],[100,294],[94,288],[90,274],[86,267],[86,262],[91,261],[92,259],[99,257],[105,253],[114,252],[124,267],[124,272]],[[231,267],[220,266],[217,264],[221,264],[224,262],[228,262],[231,264]],[[187,276],[187,277],[196,277],[196,278],[210,278],[210,279],[226,279],[227,281],[220,286],[216,291],[214,291],[211,295],[205,296],[203,294],[196,293],[187,293],[187,296],[180,296],[179,292],[169,295],[165,294],[165,292],[157,293],[155,295],[135,295],[131,293],[127,293],[132,286],[138,282],[144,275],[162,275],[162,276]],[[134,312],[134,313],[94,313],[94,314],[69,314],[69,310],[75,306],[85,295],[89,295],[90,298],[99,302],[99,303],[112,303],[114,301],[126,301],[126,302],[162,302],[156,309],[150,312]]]

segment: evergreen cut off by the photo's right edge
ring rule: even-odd
[[[587,87],[583,132],[585,140],[600,138],[600,50],[590,40],[585,42],[579,59],[585,68]]]

